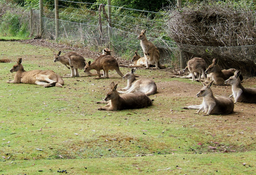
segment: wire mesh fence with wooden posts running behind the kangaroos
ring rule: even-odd
[[[173,42],[170,37],[167,24],[170,18],[168,11],[156,13],[111,6],[111,21],[109,21],[105,13],[107,6],[93,4],[94,8],[87,8],[88,5],[91,4],[58,0],[58,38],[56,38],[55,11],[48,10],[50,9],[48,7],[53,7],[55,4],[47,5],[43,12],[43,37],[51,40],[65,40],[70,44],[89,45],[99,50],[111,47],[117,55],[131,58],[134,51],[138,51],[143,56],[140,41],[136,40],[136,37],[142,29],[146,29],[148,40],[160,50],[161,63],[182,68],[192,56],[204,56],[209,63],[213,57],[228,60],[236,55],[239,56],[239,60],[246,60],[250,65],[236,64],[234,68],[250,67],[247,76],[256,76],[254,54],[256,45],[209,47],[181,44],[182,42]],[[241,23],[245,22],[241,21]],[[253,29],[253,31],[256,30]],[[183,53],[179,54],[180,51]],[[181,57],[184,59],[180,59],[180,55],[183,55]],[[222,68],[232,66],[229,63],[222,64]]]

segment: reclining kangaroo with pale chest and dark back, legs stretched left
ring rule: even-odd
[[[211,86],[213,81],[207,85],[203,83],[204,87],[196,94],[197,97],[203,97],[203,103],[200,105],[192,105],[182,107],[183,109],[198,109],[197,114],[203,110],[206,116],[210,114],[230,114],[234,110],[234,103],[232,99],[225,96],[213,96]]]

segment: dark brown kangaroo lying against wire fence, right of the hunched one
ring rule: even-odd
[[[213,80],[215,85],[225,85],[225,80],[229,79],[230,76],[233,76],[236,69],[222,70],[218,65],[218,59],[215,58],[212,60],[212,64],[209,65],[205,73],[209,74],[210,81]],[[243,76],[240,75],[239,78],[243,80]]]

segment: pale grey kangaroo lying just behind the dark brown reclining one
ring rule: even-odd
[[[119,93],[131,93],[131,92],[143,92],[147,96],[157,93],[157,85],[151,79],[139,79],[135,78],[134,72],[136,69],[132,68],[131,72],[128,72],[123,76],[123,79],[128,79],[127,86],[118,91]],[[133,84],[132,84],[133,83]]]

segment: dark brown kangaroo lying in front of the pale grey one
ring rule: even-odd
[[[125,110],[125,109],[139,109],[152,105],[152,101],[145,93],[124,93],[119,95],[116,90],[117,84],[114,82],[110,84],[110,90],[105,97],[105,101],[97,102],[97,104],[107,104],[100,107],[98,110]]]

